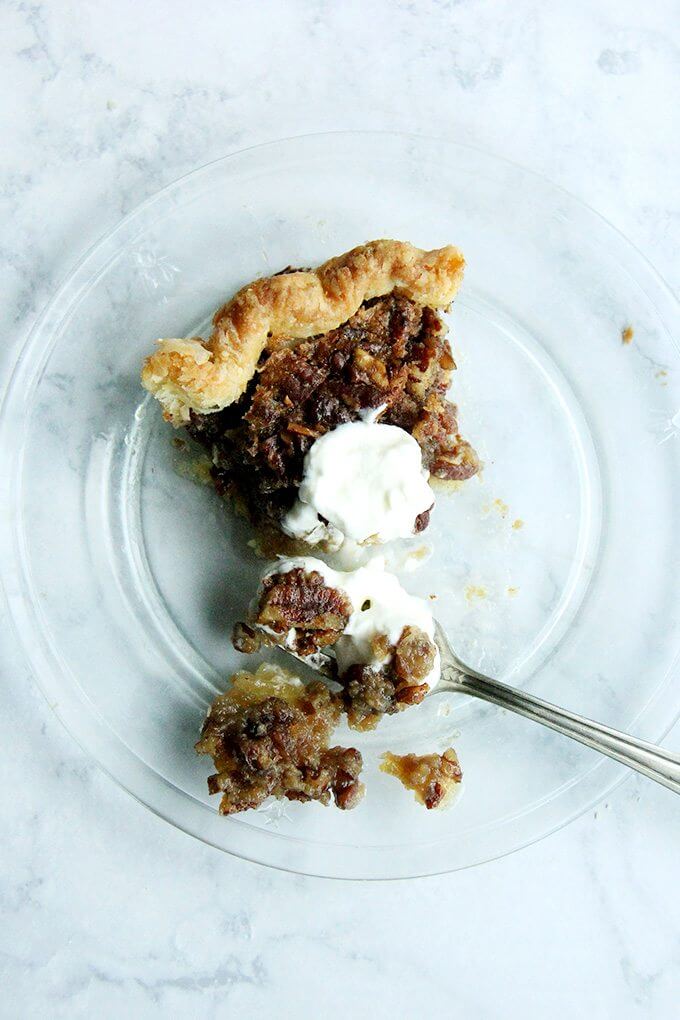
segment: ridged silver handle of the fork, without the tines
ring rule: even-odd
[[[523,715],[534,722],[540,722],[543,726],[571,736],[580,744],[585,744],[588,748],[600,751],[609,758],[613,758],[629,768],[635,769],[649,779],[655,779],[663,786],[680,794],[680,756],[673,755],[655,744],[647,744],[646,741],[629,736],[611,726],[604,726],[599,722],[592,722],[575,712],[568,712],[567,709],[558,708],[550,702],[534,698],[533,695],[525,694],[509,687],[499,680],[492,680],[488,676],[480,673],[464,673],[455,669],[455,682],[458,690],[474,698],[481,698],[482,701],[507,708],[511,712]],[[453,679],[453,677],[452,677]]]

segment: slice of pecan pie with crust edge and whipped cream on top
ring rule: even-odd
[[[332,546],[345,537],[386,541],[422,530],[433,503],[423,476],[460,480],[479,467],[447,400],[456,365],[438,314],[453,301],[463,267],[451,246],[427,252],[374,241],[317,269],[258,279],[215,314],[208,340],[159,341],[144,365],[144,386],[165,417],[208,450],[218,492],[265,531]],[[347,448],[334,442],[325,460],[319,448],[310,463],[318,440],[361,422],[368,430],[343,434]],[[388,479],[380,490],[370,472],[406,464],[413,453],[407,440],[420,459],[396,498]],[[355,512],[348,523],[343,492],[332,477],[329,488],[328,474],[333,464],[350,465],[358,449],[368,476],[345,502],[355,511],[369,497],[378,502],[366,519]],[[316,470],[317,488],[325,486],[325,502],[310,495],[308,468]],[[343,483],[360,487],[352,471]],[[388,507],[399,507],[401,518],[381,538],[375,522]]]

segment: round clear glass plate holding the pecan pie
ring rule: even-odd
[[[206,843],[295,871],[391,878],[462,868],[546,834],[622,776],[465,698],[434,696],[357,743],[353,812],[221,818],[193,752],[242,665],[231,624],[261,568],[196,483],[139,384],[157,337],[192,335],[238,287],[365,240],[460,246],[450,315],[462,430],[485,467],[439,497],[436,595],[461,654],[585,715],[660,740],[680,708],[680,319],[612,226],[520,167],[402,135],[298,138],[196,170],[83,260],[6,394],[2,576],[55,713],[110,775]],[[621,330],[632,325],[632,344]],[[352,740],[342,732],[338,742]],[[426,812],[380,751],[453,744],[464,788]]]

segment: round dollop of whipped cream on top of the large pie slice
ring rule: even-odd
[[[434,504],[429,473],[409,432],[375,420],[382,410],[314,441],[298,501],[281,521],[286,534],[337,549],[348,539],[382,545],[414,533],[416,517]]]

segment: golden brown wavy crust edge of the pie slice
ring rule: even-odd
[[[255,280],[215,313],[209,340],[160,340],[144,364],[142,382],[164,416],[182,424],[190,410],[218,411],[238,400],[265,348],[334,329],[364,301],[398,291],[446,308],[464,266],[452,245],[426,252],[405,241],[372,241],[318,269]]]

